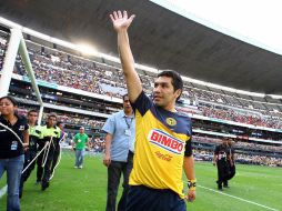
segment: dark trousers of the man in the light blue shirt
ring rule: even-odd
[[[129,152],[128,162],[111,161],[108,167],[108,195],[105,211],[115,211],[115,201],[120,184],[121,173],[123,174],[123,191],[118,204],[118,211],[125,211],[127,197],[129,191],[129,175],[133,167],[133,153]]]

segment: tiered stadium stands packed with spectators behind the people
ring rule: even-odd
[[[9,36],[6,32],[0,34],[2,66]],[[107,117],[121,108],[121,97],[127,89],[119,64],[108,66],[66,48],[50,48],[46,41],[36,43],[32,38],[27,40],[27,44],[46,104],[43,120],[48,113],[56,112],[66,124],[67,140],[78,127],[85,127],[92,138],[91,151],[102,152],[104,141],[100,129]],[[150,96],[155,74],[139,71],[144,90]],[[9,91],[20,102],[19,112],[26,114],[31,108],[38,109],[20,57],[17,57],[13,72]],[[214,145],[221,138],[230,137],[235,140],[239,162],[276,167],[282,165],[281,109],[281,102],[273,99],[191,82],[185,82],[178,103],[178,110],[193,119],[195,158],[210,160]]]

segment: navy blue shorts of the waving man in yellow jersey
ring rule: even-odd
[[[144,185],[131,185],[127,211],[185,211],[187,204],[178,193],[169,189],[151,189]]]

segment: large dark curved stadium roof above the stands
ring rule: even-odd
[[[82,3],[83,2],[83,3]],[[2,0],[3,18],[118,56],[113,10],[137,14],[130,40],[138,63],[235,89],[282,94],[282,56],[251,46],[147,0]]]

